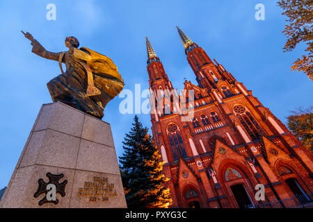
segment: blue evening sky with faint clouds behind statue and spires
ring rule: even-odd
[[[46,19],[48,3],[56,5],[56,21]],[[265,21],[255,19],[255,5],[265,6]],[[177,89],[184,78],[195,82],[175,26],[207,52],[211,59],[252,90],[254,96],[284,123],[290,110],[312,105],[312,81],[291,71],[303,54],[300,45],[282,53],[284,17],[273,0],[210,1],[1,1],[0,189],[8,184],[35,118],[43,103],[51,103],[46,84],[60,74],[58,62],[31,53],[20,30],[29,31],[49,51],[65,51],[66,36],[112,58],[125,89],[148,87],[145,37],[161,58]],[[104,110],[111,123],[118,156],[134,114],[120,114],[118,96]],[[150,114],[139,114],[151,127]]]

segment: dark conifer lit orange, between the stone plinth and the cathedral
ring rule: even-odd
[[[122,182],[129,208],[163,208],[172,203],[170,191],[163,187],[169,179],[163,175],[164,162],[147,128],[135,116],[126,134],[124,153],[120,158]]]

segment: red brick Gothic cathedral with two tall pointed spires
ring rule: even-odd
[[[172,207],[292,207],[312,203],[312,155],[223,65],[177,27],[198,85],[181,107],[162,62],[147,44],[152,134],[170,180]],[[174,93],[172,93],[174,92]],[[158,97],[159,98],[159,97]],[[158,103],[157,99],[155,103]],[[192,112],[192,113],[191,113]],[[192,114],[192,117],[190,117]],[[258,184],[265,200],[256,200]],[[288,201],[285,201],[288,200]]]

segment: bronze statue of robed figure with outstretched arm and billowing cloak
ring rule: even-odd
[[[61,101],[99,119],[103,117],[106,103],[117,96],[124,87],[124,80],[112,60],[86,47],[79,47],[76,37],[65,39],[69,51],[47,51],[30,33],[22,33],[31,40],[32,52],[59,62],[61,75],[47,83],[52,101]],[[62,62],[66,71],[63,72]]]

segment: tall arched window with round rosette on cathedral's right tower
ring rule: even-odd
[[[259,124],[252,117],[250,112],[246,110],[242,105],[235,105],[234,112],[236,117],[241,121],[242,126],[247,130],[251,139],[259,139],[264,134]]]

